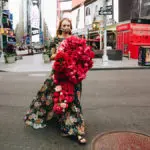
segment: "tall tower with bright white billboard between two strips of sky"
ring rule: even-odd
[[[19,43],[30,45],[32,42],[43,44],[43,1],[21,0],[19,23],[16,29]]]

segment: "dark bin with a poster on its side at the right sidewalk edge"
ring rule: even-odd
[[[138,54],[138,65],[150,66],[150,46],[140,46]]]

